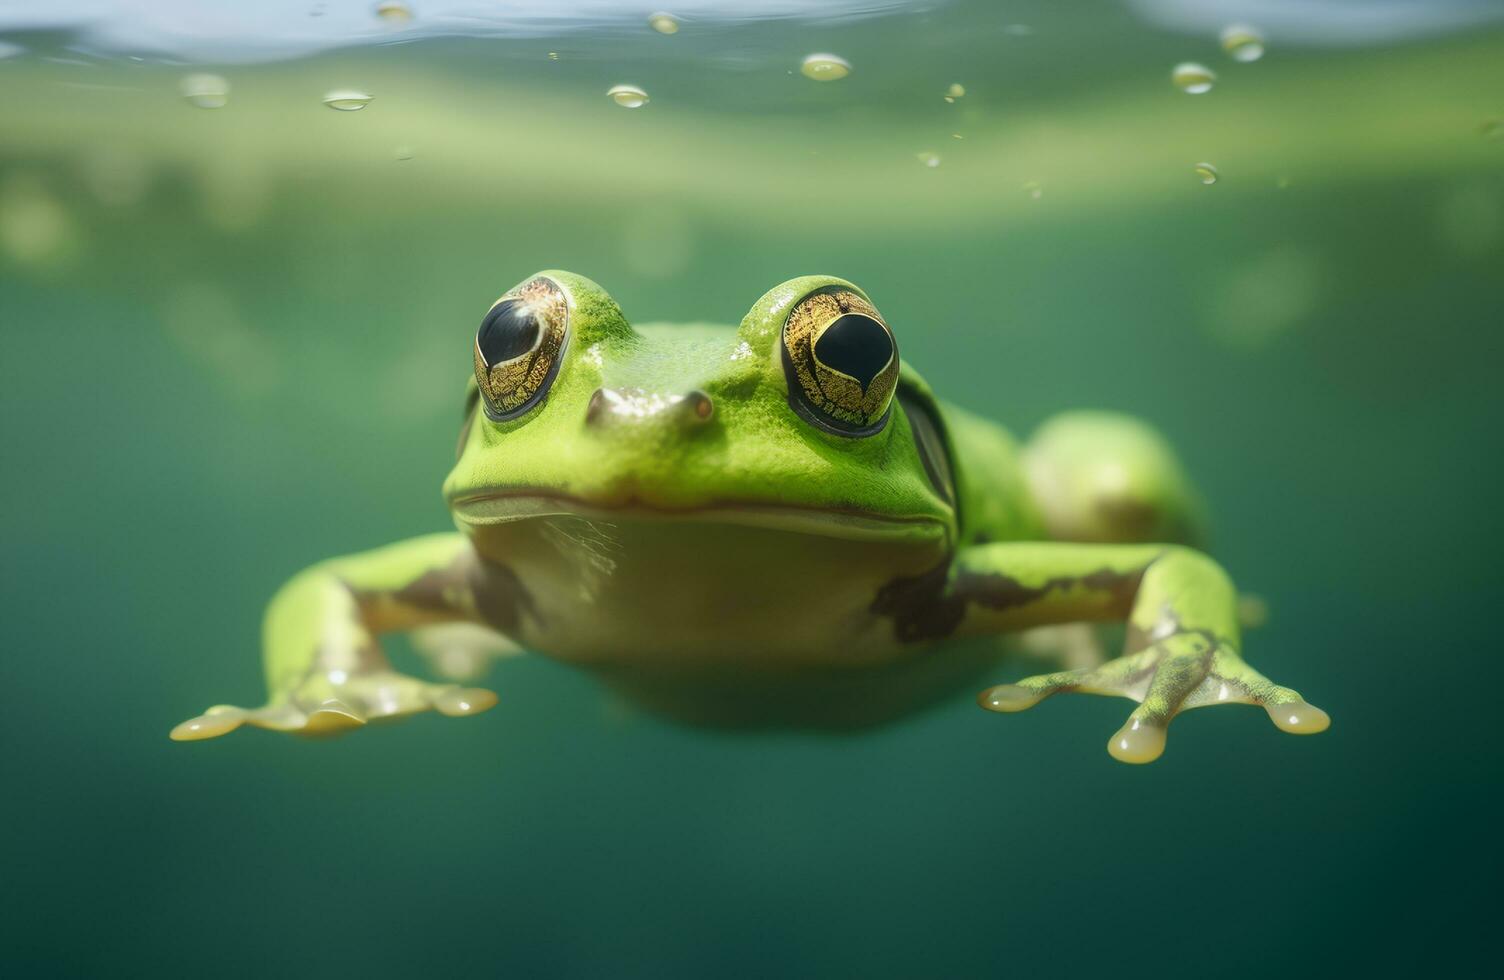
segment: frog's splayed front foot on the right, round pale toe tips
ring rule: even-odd
[[[978,696],[978,703],[990,711],[1023,711],[1060,691],[1116,694],[1140,702],[1107,743],[1107,752],[1120,762],[1158,759],[1170,720],[1188,708],[1260,705],[1275,726],[1295,735],[1314,735],[1331,723],[1325,711],[1271,682],[1229,645],[1203,633],[1176,633],[1099,667],[1042,673],[991,687]]]

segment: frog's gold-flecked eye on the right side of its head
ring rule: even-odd
[[[898,344],[877,308],[830,287],[799,301],[784,322],[788,403],[841,436],[871,436],[887,422],[898,386]]]

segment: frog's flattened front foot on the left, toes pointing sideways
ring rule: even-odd
[[[388,666],[367,670],[323,670],[305,678],[295,690],[278,694],[260,708],[215,705],[171,730],[174,741],[215,738],[241,727],[338,735],[367,721],[397,718],[420,711],[450,717],[480,714],[496,703],[496,694],[478,687],[432,684],[399,673]]]

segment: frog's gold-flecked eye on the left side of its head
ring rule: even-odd
[[[552,280],[528,280],[496,301],[475,331],[475,383],[487,418],[504,422],[543,400],[567,335],[569,301]]]

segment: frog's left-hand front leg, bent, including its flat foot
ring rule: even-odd
[[[314,565],[277,592],[262,627],[268,702],[217,705],[171,730],[179,741],[242,724],[305,735],[435,709],[466,715],[496,703],[487,690],[432,684],[391,667],[382,633],[441,622],[508,630],[526,606],[510,573],[459,534],[402,541]]]

